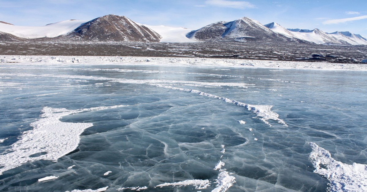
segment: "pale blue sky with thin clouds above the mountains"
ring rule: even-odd
[[[367,37],[367,0],[0,0],[0,21],[43,26],[124,15],[135,22],[198,29],[250,17],[286,28],[347,31]]]

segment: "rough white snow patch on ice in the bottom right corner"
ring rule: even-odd
[[[310,160],[314,171],[330,181],[330,191],[367,191],[367,165],[345,164],[331,157],[330,152],[310,142]]]

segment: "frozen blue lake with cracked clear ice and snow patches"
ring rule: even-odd
[[[1,64],[0,191],[364,191],[366,95],[358,71]]]

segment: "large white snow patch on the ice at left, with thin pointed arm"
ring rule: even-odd
[[[79,135],[93,124],[61,122],[62,116],[122,106],[124,105],[77,110],[44,107],[42,118],[30,124],[33,129],[25,131],[20,140],[0,155],[0,174],[27,162],[41,159],[57,161],[58,158],[74,151],[80,141]]]

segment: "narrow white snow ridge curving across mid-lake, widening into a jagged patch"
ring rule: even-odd
[[[232,103],[232,104],[235,104],[237,106],[242,106],[242,107],[246,108],[248,111],[251,111],[252,113],[255,113],[257,116],[262,117],[262,118],[260,118],[260,120],[262,120],[264,123],[268,124],[269,126],[271,126],[271,124],[268,122],[268,120],[271,119],[271,120],[275,120],[278,123],[283,124],[284,126],[288,127],[288,125],[286,124],[286,122],[284,122],[284,120],[279,119],[279,115],[277,113],[272,112],[270,110],[272,108],[272,105],[249,105],[249,104],[245,104],[245,103],[233,100],[233,99],[229,99],[229,98],[225,98],[225,97],[218,97],[217,95],[204,93],[204,92],[199,91],[199,90],[185,89],[185,88],[178,88],[178,87],[164,86],[164,85],[156,85],[156,86],[157,87],[162,87],[162,88],[169,88],[169,89],[172,89],[172,90],[196,93],[196,94],[203,95],[203,96],[206,96],[206,97],[220,99],[220,100],[225,101],[227,103]]]

